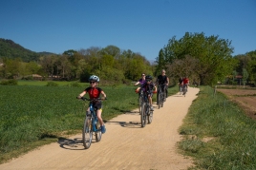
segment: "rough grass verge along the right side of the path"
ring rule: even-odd
[[[179,147],[194,158],[190,169],[256,169],[255,131],[243,110],[203,86],[180,128]]]

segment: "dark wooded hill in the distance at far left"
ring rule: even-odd
[[[37,61],[42,55],[51,55],[51,52],[34,52],[22,47],[11,40],[0,38],[0,58],[20,58],[24,62]]]

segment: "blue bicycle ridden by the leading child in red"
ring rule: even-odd
[[[90,102],[90,111],[86,111],[86,116],[84,119],[84,125],[82,130],[82,141],[83,146],[85,149],[88,149],[91,146],[92,139],[93,139],[93,132],[96,136],[96,142],[100,142],[101,140],[101,128],[100,124],[96,118],[96,108],[93,106],[93,102],[101,101],[102,99],[87,99],[87,98],[81,98],[83,101],[89,101]],[[106,100],[106,99],[105,99]]]

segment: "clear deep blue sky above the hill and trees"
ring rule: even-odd
[[[0,38],[35,52],[113,45],[154,61],[185,32],[256,50],[255,0],[1,0]]]

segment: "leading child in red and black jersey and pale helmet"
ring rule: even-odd
[[[97,87],[98,82],[99,82],[99,78],[96,75],[92,75],[89,78],[90,86],[87,87],[81,94],[79,94],[79,96],[77,98],[80,99],[86,93],[88,93],[91,100],[99,98],[100,94],[103,95],[103,97],[106,99],[107,96],[104,93],[104,91],[101,88]],[[106,127],[101,118],[101,113],[102,113],[101,101],[93,102],[93,106],[96,107],[96,117],[97,117],[98,122],[100,123],[101,132],[105,133]],[[87,111],[90,111],[90,107],[88,107]]]

